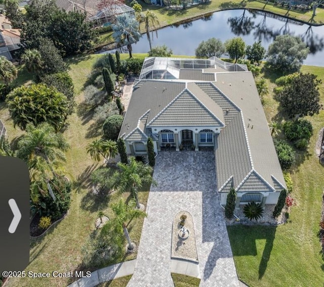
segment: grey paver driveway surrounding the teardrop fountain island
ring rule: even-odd
[[[171,278],[172,222],[186,210],[194,222],[200,286],[238,286],[216,189],[213,151],[164,151],[156,157],[134,275],[128,286],[174,286]]]

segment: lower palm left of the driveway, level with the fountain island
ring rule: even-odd
[[[101,234],[105,235],[111,230],[113,230],[116,235],[123,233],[128,242],[128,249],[133,250],[134,245],[131,241],[130,234],[128,232],[127,226],[133,218],[143,218],[146,217],[146,213],[139,209],[135,209],[135,202],[131,200],[127,205],[123,199],[119,199],[119,202],[112,204],[112,211],[115,214],[113,219],[110,219],[102,228]]]

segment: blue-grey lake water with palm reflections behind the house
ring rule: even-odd
[[[211,37],[225,42],[235,36],[242,37],[247,45],[261,40],[267,48],[278,34],[301,36],[311,53],[304,64],[324,66],[324,26],[312,27],[297,21],[248,10],[227,10],[215,12],[210,17],[194,20],[178,26],[169,26],[155,33],[152,46],[167,45],[175,55],[194,55],[199,43]],[[133,44],[133,53],[147,53],[149,44],[146,34]]]

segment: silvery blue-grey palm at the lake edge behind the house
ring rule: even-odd
[[[118,15],[116,16],[116,24],[112,24],[111,27],[113,30],[112,37],[118,47],[126,45],[130,58],[132,58],[132,44],[138,42],[142,36],[137,20],[129,15]]]

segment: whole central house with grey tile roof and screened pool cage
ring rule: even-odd
[[[217,191],[226,204],[275,204],[286,188],[253,75],[217,58],[146,58],[119,137],[128,154],[183,146],[215,150]]]

